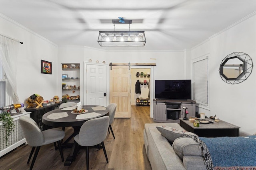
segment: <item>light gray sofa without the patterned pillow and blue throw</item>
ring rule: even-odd
[[[190,137],[178,137],[171,145],[156,128],[159,125],[184,131],[178,123],[146,123],[144,125],[144,145],[152,170],[207,169],[202,151],[196,141]],[[191,134],[194,135],[194,133]]]

